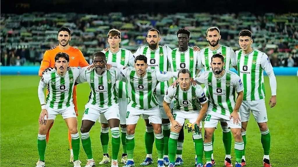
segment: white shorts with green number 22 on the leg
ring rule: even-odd
[[[241,116],[239,114],[240,120]],[[205,116],[205,121],[204,121],[204,128],[212,128],[216,127],[218,122],[226,122],[228,124],[228,127],[230,128],[240,128],[241,129],[241,122],[238,124],[233,123],[233,118],[229,119],[227,116],[223,116],[221,114],[215,113],[214,111],[207,110],[207,114]]]

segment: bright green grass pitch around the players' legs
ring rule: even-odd
[[[268,126],[271,133],[270,160],[272,166],[298,166],[298,77],[277,76],[276,78],[277,105],[274,108],[269,108],[270,87],[268,77],[265,77]],[[38,116],[41,110],[37,95],[39,79],[38,76],[1,76],[1,166],[32,167],[35,166],[38,160]],[[88,100],[90,92],[89,89],[88,84],[77,86],[78,128],[81,125],[84,105]],[[134,160],[136,166],[139,166],[145,158],[144,131],[144,121],[140,119],[135,133]],[[183,166],[189,167],[193,166],[195,152],[191,134],[184,133]],[[94,160],[96,166],[108,167],[110,164],[98,165],[102,158],[99,136],[100,124],[96,123],[90,132]],[[260,131],[252,116],[246,136],[247,166],[261,167],[263,149],[260,142]],[[85,166],[87,157],[82,145],[80,148],[80,160],[82,161],[82,166]],[[235,156],[233,148],[234,144],[232,143],[232,157]],[[109,152],[111,153],[111,137]],[[119,160],[121,153],[122,148],[120,146]],[[216,166],[224,166],[225,153],[220,125],[218,125],[218,130],[215,131],[214,156],[217,163]],[[150,166],[156,166],[157,152],[155,146],[153,157],[154,163]],[[235,158],[232,159],[232,162],[235,162]],[[50,133],[50,140],[46,149],[46,166],[72,166],[69,163],[67,128],[61,116],[56,118]],[[122,165],[119,164],[119,166]]]

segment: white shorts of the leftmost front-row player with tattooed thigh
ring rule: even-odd
[[[77,115],[75,114],[75,106],[69,106],[67,108],[61,108],[61,109],[54,109],[50,107],[46,107],[46,110],[48,111],[48,118],[44,118],[46,120],[52,119],[55,120],[56,116],[60,114],[63,119],[75,117],[77,118]]]

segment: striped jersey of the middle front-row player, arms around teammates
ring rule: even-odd
[[[128,84],[129,103],[133,108],[150,109],[158,106],[154,89],[159,82],[168,81],[178,72],[162,72],[155,69],[147,69],[145,76],[140,78],[136,69],[132,67],[121,67],[121,73],[125,76]]]

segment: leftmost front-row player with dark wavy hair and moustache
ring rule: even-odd
[[[80,138],[77,132],[75,106],[72,103],[72,91],[74,83],[81,72],[83,72],[83,69],[69,68],[69,56],[66,53],[59,52],[55,56],[55,70],[42,75],[38,86],[41,114],[39,116],[40,126],[37,140],[39,160],[36,163],[36,167],[45,167],[46,132],[58,114],[62,115],[71,134],[74,167],[80,167],[81,162],[78,160]],[[48,94],[45,102],[44,88],[46,86],[48,86]]]

